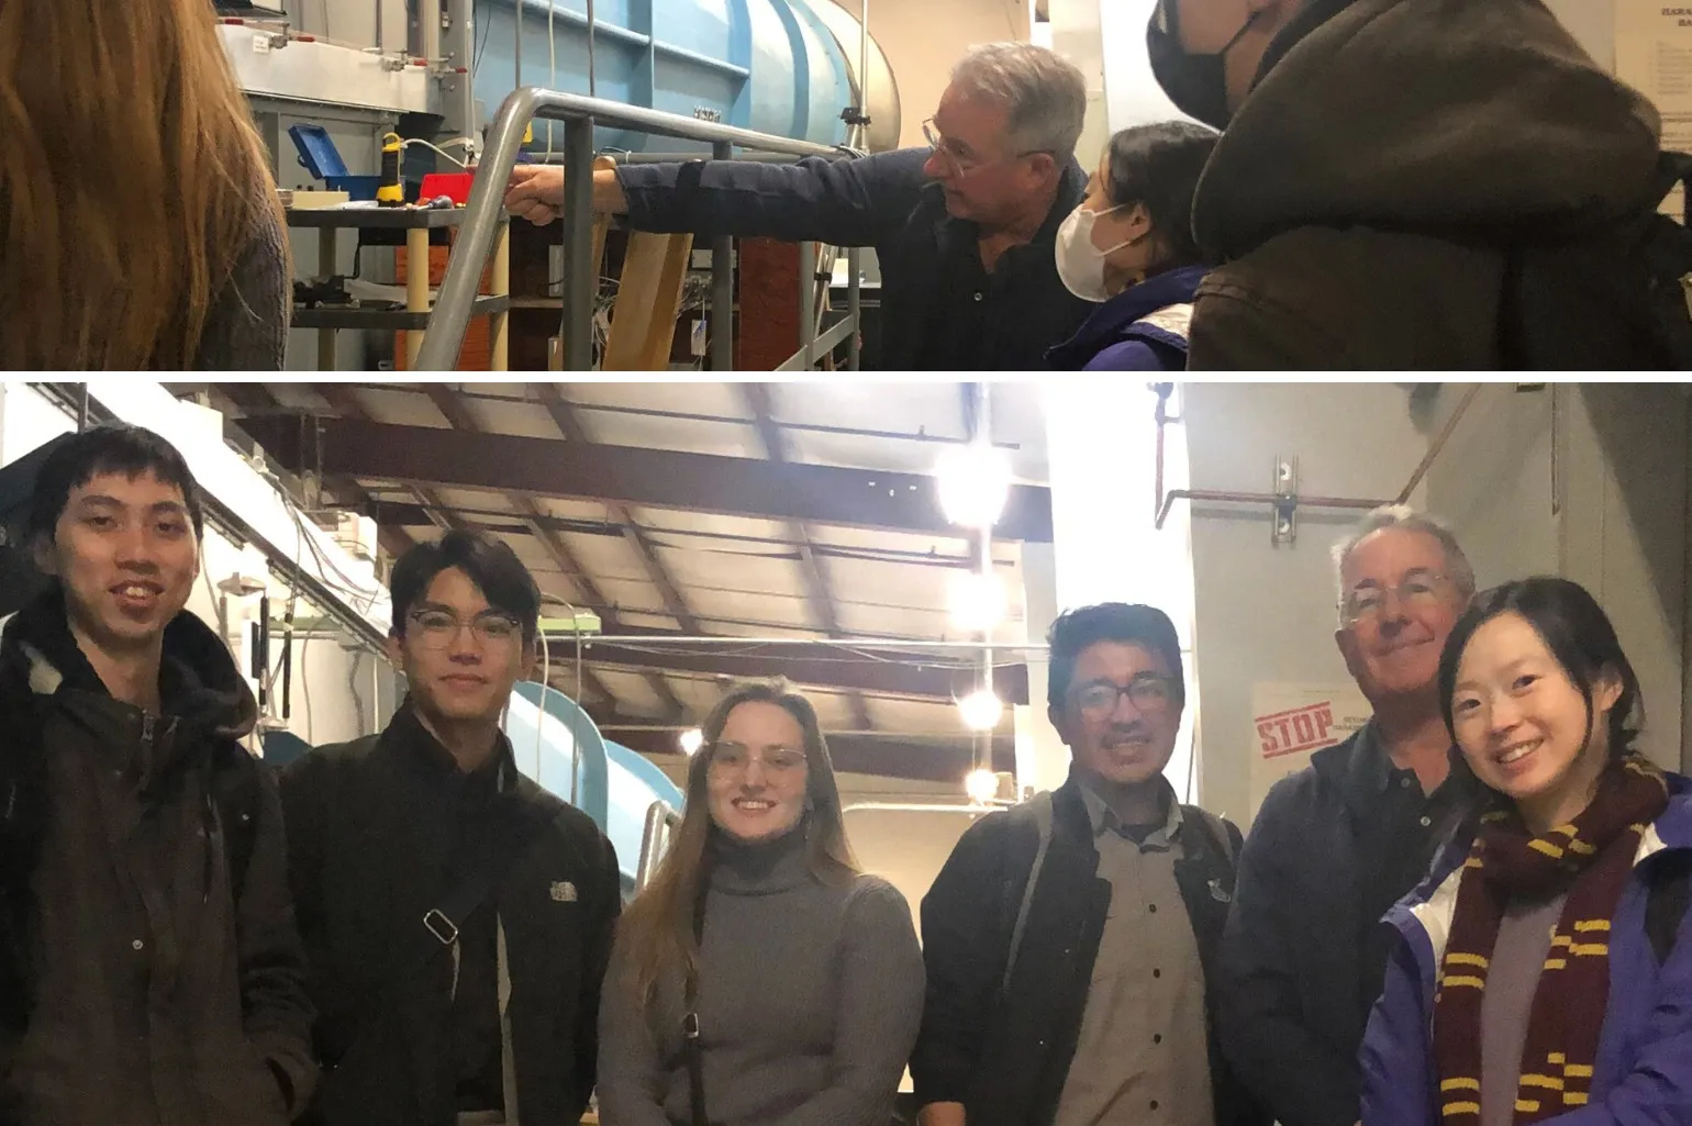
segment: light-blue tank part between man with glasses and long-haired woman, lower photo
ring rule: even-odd
[[[636,751],[601,735],[587,712],[555,688],[519,683],[506,710],[506,734],[518,769],[565,801],[570,800],[574,766],[575,806],[611,839],[623,893],[631,894],[646,810],[653,801],[680,810],[680,788]]]

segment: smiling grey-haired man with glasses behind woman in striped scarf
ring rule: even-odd
[[[1281,1126],[1352,1126],[1357,1050],[1394,935],[1381,923],[1479,790],[1440,717],[1440,651],[1474,597],[1457,539],[1403,506],[1333,553],[1345,668],[1374,717],[1264,798],[1222,948],[1222,1040]]]

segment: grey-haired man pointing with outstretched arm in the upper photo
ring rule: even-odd
[[[1058,227],[1086,193],[1081,71],[1025,42],[970,51],[926,147],[797,164],[689,161],[594,172],[594,206],[636,230],[875,247],[882,340],[866,365],[1029,370],[1091,311],[1058,277]],[[523,164],[506,206],[550,223],[563,171]]]

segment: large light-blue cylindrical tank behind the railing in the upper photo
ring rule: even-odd
[[[523,5],[521,76],[514,68],[518,5]],[[482,0],[477,20],[481,47],[474,78],[486,115],[519,85],[547,86],[797,140],[846,142],[839,113],[853,100],[848,61],[800,0],[596,0],[592,91],[587,0]],[[563,127],[550,125],[552,150],[560,152]],[[548,122],[535,122],[535,152],[547,149],[547,130]],[[594,147],[709,150],[606,127],[596,130]]]

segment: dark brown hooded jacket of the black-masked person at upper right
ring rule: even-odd
[[[1189,367],[1497,369],[1497,243],[1653,206],[1658,135],[1541,0],[1320,0],[1200,179]]]

